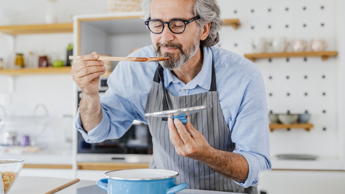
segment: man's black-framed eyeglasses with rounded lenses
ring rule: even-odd
[[[185,31],[187,24],[197,19],[200,19],[200,16],[195,16],[190,20],[174,19],[168,22],[163,22],[160,20],[150,20],[150,18],[148,18],[145,21],[145,25],[152,33],[160,34],[163,32],[165,26],[164,24],[166,23],[172,33],[180,34]]]

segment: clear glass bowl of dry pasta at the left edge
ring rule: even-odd
[[[0,172],[3,182],[4,194],[7,194],[16,181],[20,170],[24,164],[24,159],[0,158]],[[1,188],[1,187],[0,187]]]

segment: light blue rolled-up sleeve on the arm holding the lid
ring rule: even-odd
[[[272,168],[269,157],[269,128],[264,81],[257,73],[249,81],[232,129],[234,153],[248,162],[249,174],[244,187],[257,186],[259,174]]]

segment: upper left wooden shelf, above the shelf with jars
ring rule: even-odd
[[[0,26],[0,32],[12,36],[23,34],[73,32],[73,23]]]

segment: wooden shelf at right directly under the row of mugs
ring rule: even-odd
[[[254,53],[245,54],[244,57],[251,61],[261,58],[275,58],[275,57],[321,57],[322,60],[327,60],[329,57],[337,55],[337,51],[322,51],[322,52],[271,52],[271,53]]]

